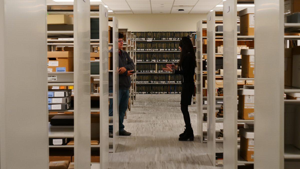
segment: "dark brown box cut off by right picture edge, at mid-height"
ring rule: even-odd
[[[300,87],[300,46],[293,47],[292,50],[292,86]]]

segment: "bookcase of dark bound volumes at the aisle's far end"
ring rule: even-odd
[[[180,94],[181,76],[171,75],[162,68],[179,62],[179,41],[194,32],[132,33],[137,38],[137,94]],[[148,85],[141,86],[145,83]]]

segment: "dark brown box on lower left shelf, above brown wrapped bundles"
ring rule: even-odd
[[[49,161],[69,161],[72,160],[73,150],[49,150]]]

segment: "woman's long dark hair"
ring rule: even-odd
[[[196,64],[196,55],[195,55],[195,50],[194,50],[192,41],[190,40],[190,37],[189,36],[182,37],[180,42],[179,42],[179,46],[181,47],[181,52],[180,52],[180,59],[179,59],[178,65],[182,66],[182,61],[184,59],[184,56],[187,53],[190,53],[190,55],[193,57],[191,59],[192,63],[190,63],[190,64],[196,67],[197,66],[197,64]]]

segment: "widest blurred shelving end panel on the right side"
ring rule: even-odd
[[[284,1],[255,5],[254,166],[284,167]],[[266,39],[268,43],[265,43]],[[266,165],[267,164],[267,165]]]

